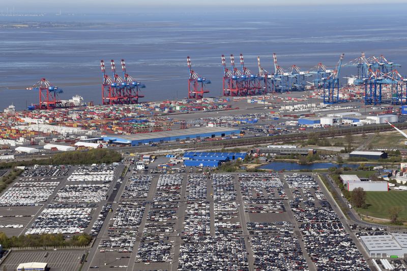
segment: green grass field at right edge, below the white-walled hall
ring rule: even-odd
[[[358,212],[376,218],[389,218],[389,209],[393,206],[402,208],[399,219],[407,221],[407,191],[366,192],[366,209],[358,208]]]

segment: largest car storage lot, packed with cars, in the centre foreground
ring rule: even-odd
[[[125,184],[88,257],[96,269],[368,269],[312,176],[134,174]]]

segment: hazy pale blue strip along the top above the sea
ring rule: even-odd
[[[166,0],[155,0],[152,1],[137,1],[136,3],[131,0],[122,0],[115,2],[113,5],[111,2],[107,1],[96,1],[96,0],[86,0],[85,3],[79,0],[72,0],[68,3],[57,3],[55,1],[40,0],[33,3],[28,0],[14,1],[12,4],[0,5],[0,12],[3,14],[15,14],[18,13],[54,13],[60,10],[64,13],[104,13],[104,14],[119,14],[119,13],[129,13],[138,11],[156,11],[156,12],[168,12],[168,11],[179,11],[179,12],[200,12],[219,8],[219,12],[224,12],[225,14],[230,11],[236,10],[253,10],[258,8],[288,8],[293,9],[311,9],[315,10],[316,7],[329,7],[329,6],[340,6],[344,9],[352,10],[358,6],[363,6],[366,9],[377,9],[380,7],[389,7],[389,4],[407,4],[405,0],[392,0],[387,3],[379,0],[342,0],[338,2],[325,2],[322,0],[309,0],[306,3],[302,0],[292,0],[290,2],[280,2],[280,1],[268,1],[268,0],[258,0],[256,3],[247,5],[246,1],[243,0],[224,0],[221,3],[216,0],[207,0],[205,2],[188,2],[182,0],[171,1],[170,4]],[[199,8],[199,10],[196,10]],[[391,8],[391,7],[389,7]],[[216,11],[216,10],[215,10]],[[340,13],[341,10],[335,10],[335,12]],[[358,10],[360,12],[360,10]],[[363,15],[363,12],[360,13]]]

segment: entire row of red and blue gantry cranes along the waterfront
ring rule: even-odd
[[[384,102],[382,91],[390,92],[391,104],[407,104],[407,78],[401,76],[397,68],[401,65],[388,61],[384,55],[367,57],[364,52],[351,62],[343,64],[344,54],[339,56],[339,61],[334,68],[329,69],[322,63],[309,70],[301,70],[292,65],[283,69],[277,61],[277,55],[273,53],[274,71],[267,71],[257,57],[257,71],[252,72],[245,66],[244,56],[240,54],[240,67],[235,65],[235,56],[230,54],[230,66],[226,64],[225,55],[221,55],[222,94],[223,96],[251,96],[265,95],[269,93],[284,93],[293,91],[305,91],[314,89],[321,91],[325,104],[343,102],[340,100],[340,73],[342,67],[356,68],[357,73],[352,77],[344,77],[348,85],[363,89],[364,103],[366,105],[381,104]],[[204,94],[209,93],[208,85],[211,80],[200,76],[192,69],[191,58],[187,57],[189,70],[188,98],[202,99]],[[105,63],[100,62],[102,71],[102,104],[136,104],[139,98],[144,96],[141,89],[146,85],[131,77],[126,71],[125,60],[121,60],[122,74],[116,72],[113,59],[110,61],[111,76],[106,73]],[[63,90],[41,78],[34,85],[27,87],[38,91],[39,103],[35,109],[53,109],[62,107],[62,101],[58,95]]]

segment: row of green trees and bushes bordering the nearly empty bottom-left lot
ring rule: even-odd
[[[63,234],[28,234],[8,237],[6,233],[0,232],[0,244],[5,248],[87,246],[91,240],[92,236],[85,233],[64,239]]]

